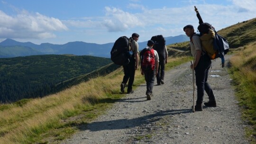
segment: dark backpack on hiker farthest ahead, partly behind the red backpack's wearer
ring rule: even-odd
[[[165,59],[165,38],[163,35],[152,36],[151,40],[154,41],[155,45],[153,46],[156,50],[159,59]]]

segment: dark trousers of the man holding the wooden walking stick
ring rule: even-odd
[[[210,65],[210,57],[207,54],[204,54],[203,56],[201,56],[199,63],[195,67],[197,105],[201,105],[201,103],[203,102],[204,90],[206,91],[210,100],[215,99],[213,91],[211,90],[210,85],[207,82]]]

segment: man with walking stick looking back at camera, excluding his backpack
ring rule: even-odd
[[[195,105],[195,111],[202,111],[202,102],[204,96],[204,90],[206,91],[209,102],[205,102],[205,106],[216,107],[216,101],[210,85],[207,82],[208,72],[211,65],[210,57],[205,54],[201,46],[201,40],[198,35],[195,35],[194,27],[187,25],[183,27],[183,31],[190,37],[191,54],[194,57],[194,64],[191,64],[191,68],[195,70],[195,79],[197,86],[197,100]]]

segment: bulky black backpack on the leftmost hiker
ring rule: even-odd
[[[116,40],[110,52],[113,63],[117,65],[130,63],[130,58],[132,57],[131,41],[132,38],[126,36],[121,36]]]

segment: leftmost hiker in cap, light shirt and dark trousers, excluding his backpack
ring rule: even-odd
[[[137,33],[132,34],[132,41],[131,41],[131,51],[133,52],[131,58],[130,58],[130,63],[127,65],[123,65],[124,69],[124,77],[123,81],[120,85],[121,87],[121,92],[125,92],[125,87],[126,83],[128,82],[127,86],[127,93],[133,93],[134,91],[132,90],[132,85],[134,81],[134,76],[135,76],[135,70],[138,69],[138,37],[139,35]]]

